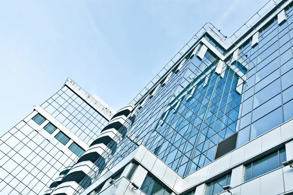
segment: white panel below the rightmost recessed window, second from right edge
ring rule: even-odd
[[[278,195],[284,192],[283,170],[278,169],[260,177],[261,195]]]

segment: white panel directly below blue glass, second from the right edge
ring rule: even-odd
[[[262,136],[262,151],[265,151],[272,146],[281,142],[281,127],[277,127],[272,131]]]

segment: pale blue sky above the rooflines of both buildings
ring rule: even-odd
[[[226,35],[267,0],[1,0],[0,136],[67,77],[129,103],[206,23]]]

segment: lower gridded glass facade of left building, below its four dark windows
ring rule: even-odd
[[[1,195],[43,194],[77,158],[69,150],[63,153],[64,145],[56,138],[48,141],[35,131],[33,123],[21,121],[0,138]]]

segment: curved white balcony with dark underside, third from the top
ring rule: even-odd
[[[90,147],[99,143],[104,143],[105,145],[108,145],[110,141],[114,140],[116,143],[118,143],[121,139],[122,135],[114,128],[107,129],[103,133],[101,133],[96,140],[94,140]]]

